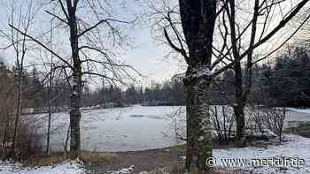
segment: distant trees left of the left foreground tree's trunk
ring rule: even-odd
[[[41,109],[46,107],[49,102],[47,82],[45,76],[38,72],[35,67],[32,71],[20,72],[18,66],[8,67],[3,62],[0,62],[0,103],[7,101],[15,101],[17,91],[19,90],[19,73],[21,73],[21,98],[23,102],[20,108],[22,110]],[[69,101],[66,96],[69,95],[70,87],[64,79],[55,79],[53,81],[52,95],[54,96],[51,101],[54,107],[67,106]]]

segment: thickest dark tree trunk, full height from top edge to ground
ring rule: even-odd
[[[187,117],[187,152],[185,168],[205,173],[212,157],[212,124],[208,102],[216,0],[179,0],[182,29],[189,49],[184,57],[188,66],[184,78]],[[168,41],[169,38],[167,38]]]

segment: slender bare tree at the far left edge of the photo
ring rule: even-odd
[[[31,0],[27,4],[27,10],[20,4],[16,4],[15,1],[12,1],[8,4],[8,21],[15,25],[19,30],[24,30],[27,34],[29,27],[32,24],[32,21],[35,17],[35,6],[34,2]],[[22,99],[22,93],[24,91],[24,62],[27,57],[27,51],[30,49],[27,45],[27,37],[23,34],[20,34],[18,31],[9,28],[7,30],[2,29],[1,36],[6,40],[6,45],[1,48],[3,50],[11,49],[15,56],[16,61],[16,73],[17,73],[17,99],[16,99],[16,113],[14,118],[14,130],[12,138],[12,147],[9,153],[10,156],[15,155],[16,141],[18,139],[18,127],[19,127],[19,115],[21,114],[22,104],[24,100]]]

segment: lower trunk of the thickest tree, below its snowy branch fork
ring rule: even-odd
[[[210,79],[198,78],[185,84],[187,146],[186,170],[205,173],[211,166],[206,160],[213,156],[212,122],[209,112],[208,88]]]

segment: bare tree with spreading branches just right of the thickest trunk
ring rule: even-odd
[[[237,4],[235,0],[229,0],[224,5],[221,18],[219,18],[218,30],[221,35],[222,49],[217,57],[221,60],[221,55],[228,55],[226,61],[233,64],[232,69],[235,71],[236,101],[233,108],[236,115],[236,138],[238,140],[244,137],[244,107],[252,87],[253,64],[257,64],[280,49],[298,32],[310,15],[275,48],[268,49],[264,54],[260,53],[254,57],[255,50],[260,49],[261,45],[280,33],[281,29],[298,14],[307,2],[307,0],[299,1],[286,9],[283,6],[287,2],[276,0],[255,0],[252,5],[249,3],[250,9],[245,8],[244,4]],[[283,16],[281,18],[273,16],[274,11],[281,11]],[[243,72],[242,59],[244,57],[246,61]]]

